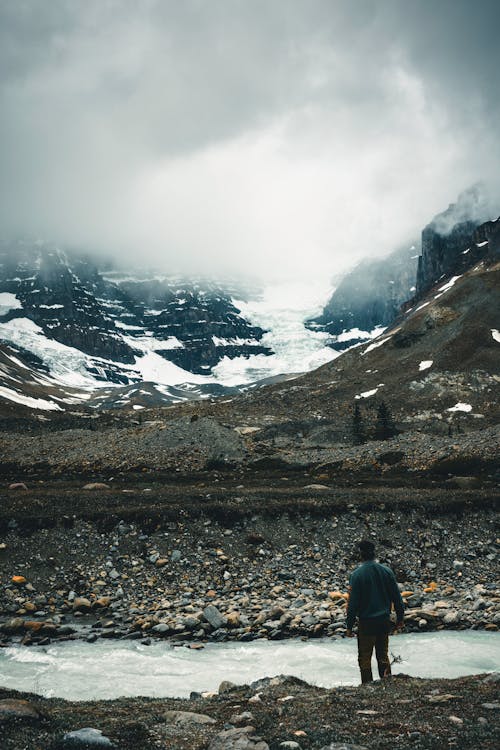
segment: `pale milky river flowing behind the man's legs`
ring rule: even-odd
[[[418,677],[500,669],[500,636],[495,633],[398,635],[391,638],[390,651],[402,658],[394,672]],[[248,684],[278,674],[322,687],[358,684],[356,641],[262,640],[210,644],[200,651],[137,641],[0,649],[0,686],[68,700],[188,697],[192,690],[217,690],[222,680]]]

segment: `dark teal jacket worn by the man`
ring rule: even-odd
[[[346,627],[352,630],[356,617],[360,620],[389,618],[394,604],[398,622],[403,621],[404,605],[396,577],[387,565],[367,560],[351,574],[351,593],[347,606]]]

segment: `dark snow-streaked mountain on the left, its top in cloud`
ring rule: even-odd
[[[0,246],[0,341],[70,386],[201,384],[224,357],[271,354],[236,306],[245,294],[231,282],[124,273],[44,243]]]

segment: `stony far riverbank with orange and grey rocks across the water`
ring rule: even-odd
[[[500,627],[494,492],[222,481],[11,490],[0,643],[342,637],[363,536],[396,572],[408,630]]]

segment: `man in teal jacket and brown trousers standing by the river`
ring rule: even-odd
[[[391,605],[396,611],[396,629],[403,627],[404,605],[394,573],[387,565],[375,561],[375,545],[369,540],[359,543],[362,564],[349,579],[346,636],[358,618],[358,663],[361,682],[371,682],[372,653],[375,648],[380,677],[391,674],[389,631]]]

